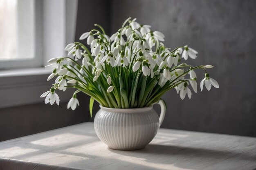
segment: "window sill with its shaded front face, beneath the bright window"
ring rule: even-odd
[[[27,104],[44,104],[44,98],[40,95],[49,91],[54,83],[54,78],[47,77],[51,71],[45,68],[27,68],[0,71],[0,108],[20,106]],[[67,102],[73,90],[67,89],[65,93],[57,91],[61,103]]]

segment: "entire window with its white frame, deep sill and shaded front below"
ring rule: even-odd
[[[0,0],[0,108],[43,102],[39,96],[50,83],[45,82],[50,72],[43,66],[52,57],[67,55],[64,48],[75,37],[77,4]]]

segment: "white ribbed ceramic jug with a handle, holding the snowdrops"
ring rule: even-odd
[[[161,126],[166,106],[161,99],[160,117],[153,106],[145,108],[106,108],[100,106],[94,118],[94,129],[101,141],[111,149],[136,150],[144,148]]]

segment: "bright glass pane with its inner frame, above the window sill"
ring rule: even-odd
[[[38,66],[35,0],[0,0],[0,68]]]

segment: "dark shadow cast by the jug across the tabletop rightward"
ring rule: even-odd
[[[145,159],[149,163],[173,164],[180,168],[189,169],[206,168],[210,164],[214,165],[225,159],[232,160],[227,161],[227,164],[234,163],[238,160],[256,161],[256,157],[247,154],[247,152],[167,146],[160,144],[148,144],[145,148],[139,150],[122,151],[110,148],[108,148],[108,150],[119,155]],[[189,161],[189,164],[186,164],[186,160]],[[225,162],[222,162],[222,165],[224,164]]]

